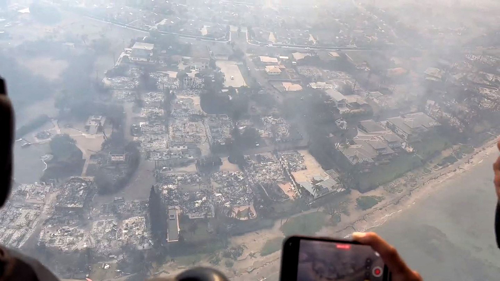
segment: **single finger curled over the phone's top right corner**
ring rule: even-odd
[[[396,248],[387,243],[375,232],[354,232],[352,238],[364,245],[369,245],[380,254],[383,262],[392,274],[406,273],[410,269],[397,253]]]

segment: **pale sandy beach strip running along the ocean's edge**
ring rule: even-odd
[[[337,225],[325,225],[315,236],[327,236],[327,237],[344,237],[349,238],[351,233],[354,231],[369,231],[372,228],[378,227],[384,224],[391,217],[399,212],[403,212],[412,205],[416,204],[417,201],[423,199],[425,196],[431,195],[433,191],[436,191],[441,185],[447,180],[453,179],[455,176],[463,174],[469,171],[469,169],[476,164],[483,162],[483,160],[497,151],[496,148],[497,137],[490,140],[474,149],[474,152],[464,155],[463,158],[459,159],[455,163],[442,168],[441,170],[430,172],[428,174],[411,174],[405,175],[392,182],[384,185],[380,185],[374,190],[368,191],[365,194],[380,194],[386,195],[386,198],[373,206],[371,209],[365,211],[358,211],[359,215],[350,214],[349,216],[343,215],[342,220]],[[408,177],[421,176],[417,179],[416,184],[409,186],[408,182],[404,182],[404,179]],[[402,182],[401,182],[402,181]],[[385,186],[390,186],[396,184],[401,184],[403,191],[399,193],[389,193],[384,190]],[[492,184],[492,183],[491,183]],[[493,192],[493,188],[492,191]],[[387,195],[390,194],[389,195]],[[345,218],[344,218],[345,217]],[[350,219],[349,219],[350,218]],[[279,220],[276,222],[279,224]],[[275,225],[276,226],[276,225]],[[278,233],[274,232],[276,229],[279,231],[278,227],[272,227],[270,229],[259,231],[258,236],[260,238],[269,238],[274,234],[276,236]],[[274,231],[273,231],[274,230]],[[281,232],[279,234],[282,235]],[[251,237],[252,235],[250,235]],[[235,240],[243,240],[243,237]],[[237,277],[239,280],[262,280],[264,278],[273,279],[279,272],[281,252],[277,251],[267,256],[267,258],[257,258],[252,264],[253,270],[248,272],[242,266],[237,266],[236,274],[230,274],[230,279]],[[246,267],[247,268],[247,267]],[[235,268],[234,268],[235,269]]]

